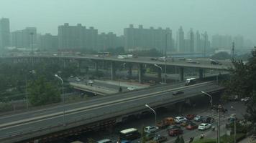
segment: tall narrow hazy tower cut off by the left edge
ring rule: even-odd
[[[0,48],[10,46],[10,23],[9,19],[0,19]]]

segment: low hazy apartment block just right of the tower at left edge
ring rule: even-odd
[[[37,29],[27,27],[11,33],[11,45],[17,48],[37,48]]]

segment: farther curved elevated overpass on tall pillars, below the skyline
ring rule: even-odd
[[[85,56],[49,56],[49,55],[34,55],[34,56],[6,56],[1,57],[1,59],[11,59],[14,62],[19,61],[42,61],[42,60],[54,60],[58,62],[67,63],[70,60],[78,61],[78,66],[82,64],[82,61],[89,60],[94,62],[94,67],[96,71],[99,69],[99,64],[101,61],[106,62],[105,66],[110,66],[111,69],[111,79],[114,79],[116,69],[120,66],[120,63],[126,63],[128,73],[132,74],[132,66],[136,65],[138,69],[138,75],[139,75],[139,82],[142,82],[142,76],[144,68],[143,65],[154,65],[157,64],[159,66],[162,66],[162,70],[165,70],[165,67],[168,70],[168,67],[175,66],[178,67],[178,71],[180,74],[180,81],[183,81],[184,79],[184,68],[193,68],[198,69],[198,75],[199,79],[202,79],[204,77],[204,70],[211,69],[211,70],[217,70],[217,71],[228,71],[229,69],[234,68],[234,65],[231,61],[220,61],[220,64],[211,64],[211,61],[206,59],[193,59],[193,61],[196,61],[199,64],[187,62],[185,60],[169,60],[169,61],[155,61],[151,60],[150,57],[138,57],[138,58],[127,58],[127,59],[118,59],[117,56],[94,56],[91,54],[86,54]],[[119,63],[119,64],[118,64]],[[159,71],[159,75],[161,76],[161,73],[163,74],[163,71]],[[161,78],[161,77],[160,77]]]

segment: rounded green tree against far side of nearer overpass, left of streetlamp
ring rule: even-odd
[[[39,76],[35,78],[28,85],[28,99],[32,106],[60,102],[58,87],[47,81],[45,77]]]

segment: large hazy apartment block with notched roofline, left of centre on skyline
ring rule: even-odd
[[[70,26],[65,23],[58,26],[59,49],[96,49],[98,30],[77,24]]]

